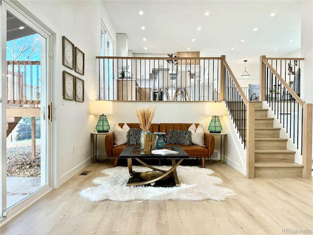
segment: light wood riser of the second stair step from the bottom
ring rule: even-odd
[[[294,153],[255,153],[255,163],[294,163]]]

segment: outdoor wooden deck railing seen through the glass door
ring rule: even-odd
[[[40,104],[40,61],[7,61],[7,103]]]

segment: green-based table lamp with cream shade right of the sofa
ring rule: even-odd
[[[205,115],[212,116],[208,130],[210,133],[221,133],[223,130],[219,116],[225,115],[225,106],[222,102],[209,102],[205,105]]]

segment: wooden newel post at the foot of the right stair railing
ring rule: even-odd
[[[304,165],[302,171],[302,178],[312,178],[312,106],[313,104],[305,103],[303,106],[303,153],[302,164]]]

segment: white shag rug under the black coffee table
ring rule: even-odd
[[[159,169],[170,169],[170,166],[156,166]],[[151,171],[144,166],[133,166],[136,172]],[[200,168],[198,166],[177,167],[179,187],[144,187],[126,186],[129,180],[127,167],[116,166],[102,170],[103,177],[97,177],[92,182],[99,184],[97,187],[90,187],[82,190],[80,195],[90,201],[112,200],[118,202],[133,200],[189,200],[202,201],[212,199],[224,201],[227,197],[236,195],[235,191],[229,188],[216,186],[222,184],[221,178],[210,176],[213,170]]]

